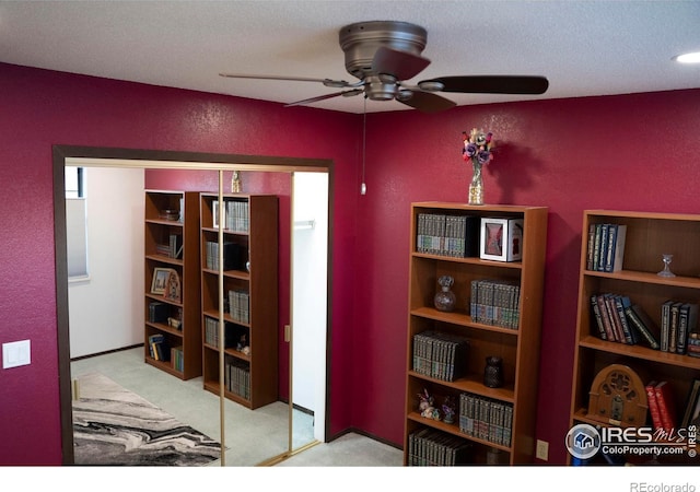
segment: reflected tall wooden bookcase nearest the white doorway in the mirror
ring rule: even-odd
[[[278,198],[200,195],[205,389],[220,394],[219,223],[223,226],[226,398],[256,409],[278,399]]]

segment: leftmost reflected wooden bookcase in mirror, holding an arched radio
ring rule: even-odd
[[[145,362],[201,376],[199,192],[145,190],[144,208]]]

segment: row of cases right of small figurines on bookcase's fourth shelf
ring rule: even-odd
[[[511,445],[513,406],[492,398],[459,395],[459,432],[503,446]]]

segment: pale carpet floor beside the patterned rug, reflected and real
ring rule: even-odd
[[[180,380],[143,362],[143,348],[81,359],[71,363],[71,377],[100,372],[206,435],[221,440],[220,401],[202,389],[201,377]],[[288,447],[289,406],[278,401],[249,410],[231,400],[224,403],[224,446],[228,467],[253,467]],[[313,441],[314,420],[293,412],[293,448]],[[402,452],[370,437],[347,434],[296,454],[281,467],[400,467]],[[210,464],[221,465],[220,460]]]

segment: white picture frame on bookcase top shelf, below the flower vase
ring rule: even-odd
[[[493,261],[523,258],[523,220],[481,218],[479,257]]]

